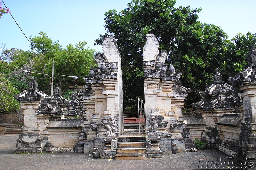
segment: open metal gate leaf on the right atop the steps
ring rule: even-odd
[[[145,101],[138,98],[139,132],[146,133]]]

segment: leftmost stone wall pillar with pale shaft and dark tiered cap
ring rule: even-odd
[[[22,133],[17,139],[15,152],[42,152],[43,147],[49,141],[48,138],[41,137],[39,133],[36,112],[40,106],[41,100],[47,95],[37,89],[38,84],[35,80],[28,83],[29,88],[18,95],[14,95],[19,102],[21,102],[21,109],[24,111],[24,126],[21,128]]]

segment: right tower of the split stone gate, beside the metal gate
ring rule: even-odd
[[[146,39],[143,47],[146,117],[150,117],[152,113],[161,115],[163,121],[167,122],[165,130],[171,132],[172,138],[183,140],[182,145],[178,144],[179,152],[183,152],[185,150],[184,138],[180,132],[184,128],[184,123],[181,108],[190,89],[181,86],[179,79],[182,73],[175,74],[172,64],[169,67],[164,64],[167,52],[163,50],[159,53],[159,43],[155,35],[149,33]],[[146,127],[148,127],[148,122]]]

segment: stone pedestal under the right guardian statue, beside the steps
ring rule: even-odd
[[[160,137],[146,138],[146,151],[148,158],[162,158],[162,151],[159,147]]]

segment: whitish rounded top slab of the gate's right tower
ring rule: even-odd
[[[152,33],[146,35],[146,44],[143,46],[143,61],[156,61],[156,56],[159,53],[159,43],[156,36]]]

